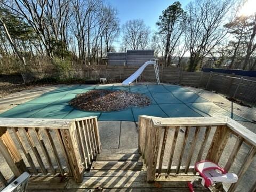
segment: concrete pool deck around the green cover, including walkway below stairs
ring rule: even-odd
[[[107,84],[108,86],[119,86],[121,84]],[[65,85],[65,87],[72,87],[74,85]],[[75,85],[77,86],[77,85]],[[15,106],[31,101],[38,98],[42,94],[49,93],[63,87],[63,85],[53,85],[37,87],[31,90],[25,90],[8,95],[7,97],[0,99],[0,113],[7,111]],[[247,129],[256,133],[256,124],[252,123],[256,119],[256,110],[254,108],[244,107],[237,103],[227,100],[223,95],[206,91],[203,89],[197,89],[194,87],[184,87],[189,92],[198,94],[201,98],[214,103],[210,109],[207,109],[207,113],[210,116],[221,116],[225,114],[231,114],[232,116],[242,117],[238,118],[238,122],[247,127]],[[182,93],[182,92],[180,92]],[[208,102],[207,102],[208,103]],[[164,104],[163,104],[164,105]],[[189,103],[188,103],[189,105]],[[195,110],[198,105],[204,105],[204,103],[194,103]],[[216,107],[215,107],[216,106]],[[206,108],[207,106],[203,106]],[[227,113],[228,111],[228,113]],[[202,111],[198,111],[202,113]],[[204,115],[204,114],[203,114]],[[202,116],[203,116],[202,115]],[[244,118],[244,119],[243,119]],[[122,148],[137,148],[138,147],[138,127],[137,122],[127,121],[99,121],[100,138],[102,141],[102,147],[106,149],[122,149]]]

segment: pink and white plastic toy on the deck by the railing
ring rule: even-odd
[[[200,177],[197,177],[193,181],[188,182],[190,192],[194,192],[193,182],[197,179],[202,179],[202,185],[207,188],[217,182],[235,183],[238,179],[236,174],[227,173],[219,165],[207,160],[197,162],[195,169],[199,173]]]

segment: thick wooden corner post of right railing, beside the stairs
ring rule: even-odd
[[[150,126],[147,127],[150,129],[150,142],[147,147],[147,181],[153,182],[155,180],[156,174],[156,164],[159,150],[159,143],[161,140],[162,127],[154,127],[153,120],[150,121]]]

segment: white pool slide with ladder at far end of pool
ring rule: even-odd
[[[159,82],[159,69],[158,69],[158,65],[156,61],[146,61],[137,71],[135,71],[135,73],[133,73],[130,77],[128,77],[127,79],[125,79],[123,81],[123,85],[129,85],[132,82],[134,82],[138,77],[140,77],[141,73],[143,72],[143,70],[148,66],[148,65],[154,65],[154,69],[155,69],[155,74],[156,74],[156,81],[157,83]]]

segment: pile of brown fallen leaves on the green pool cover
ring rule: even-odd
[[[111,90],[91,90],[77,94],[69,105],[85,111],[118,111],[127,107],[150,105],[150,99],[139,93]]]

